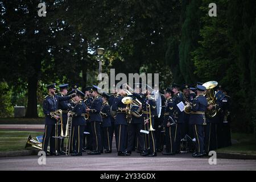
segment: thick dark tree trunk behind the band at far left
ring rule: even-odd
[[[35,74],[36,75],[36,74]],[[28,99],[27,99],[27,111],[26,118],[38,117],[38,77],[37,75],[28,78]]]

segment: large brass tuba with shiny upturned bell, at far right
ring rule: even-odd
[[[207,115],[207,117],[209,118],[213,118],[216,114],[217,114],[217,109],[216,109],[216,97],[214,94],[214,89],[216,86],[218,85],[217,81],[208,81],[205,82],[203,84],[203,86],[205,86],[205,88],[207,89],[207,92],[205,94],[205,96],[207,97],[207,102],[208,102],[208,106],[212,105],[213,109],[211,110],[207,110],[205,111],[205,114]]]

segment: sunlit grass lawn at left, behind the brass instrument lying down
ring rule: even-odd
[[[29,134],[36,139],[36,136],[43,135],[43,132],[0,130],[0,152],[27,150],[24,147]]]

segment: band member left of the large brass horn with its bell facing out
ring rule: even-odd
[[[115,137],[118,138],[118,154],[119,156],[130,155],[126,152],[127,143],[127,120],[126,120],[126,105],[122,103],[122,98],[125,96],[125,90],[122,88],[118,90],[118,95],[114,98],[112,110],[117,111],[115,118],[115,125],[118,128],[118,133]]]

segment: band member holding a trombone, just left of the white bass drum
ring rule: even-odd
[[[151,94],[148,90],[144,89],[143,92],[144,100],[142,100],[142,118],[144,120],[144,130],[149,131],[149,133],[144,135],[145,150],[141,155],[156,156],[156,140],[154,129],[152,130],[150,128],[150,126],[154,126],[154,117],[157,115],[156,101],[150,97]]]

